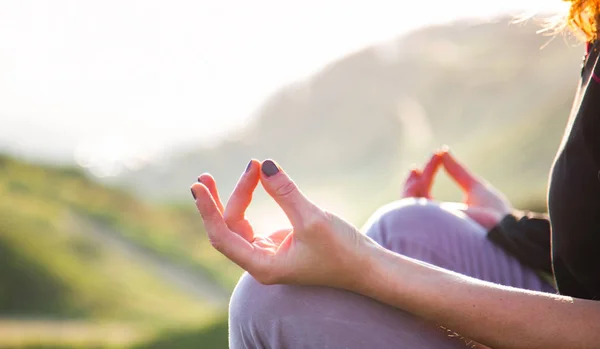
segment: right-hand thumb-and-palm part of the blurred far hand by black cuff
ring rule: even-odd
[[[465,194],[464,212],[486,229],[497,225],[513,208],[508,199],[491,184],[479,178],[457,161],[452,154],[441,154],[444,169]]]

